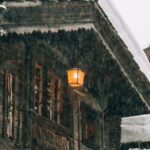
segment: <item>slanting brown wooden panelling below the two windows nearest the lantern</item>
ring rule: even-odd
[[[38,145],[39,148],[71,149],[71,131],[35,112],[31,112],[31,134],[32,148]]]

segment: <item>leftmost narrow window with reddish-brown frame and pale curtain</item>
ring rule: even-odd
[[[15,126],[15,103],[16,103],[16,77],[5,72],[4,82],[4,135],[9,138],[14,137]]]

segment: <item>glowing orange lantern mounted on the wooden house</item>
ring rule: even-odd
[[[67,70],[68,83],[71,87],[80,87],[83,85],[85,73],[79,68]]]

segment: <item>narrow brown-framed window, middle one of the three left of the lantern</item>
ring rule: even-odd
[[[43,95],[43,68],[41,65],[35,65],[34,71],[34,110],[42,114],[42,95]]]

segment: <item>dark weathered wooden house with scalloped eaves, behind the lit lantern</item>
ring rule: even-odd
[[[0,149],[119,150],[121,117],[147,114],[150,84],[95,1],[5,1]],[[66,71],[85,72],[72,88]]]

